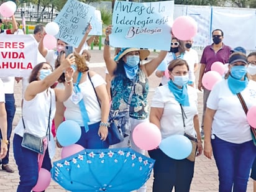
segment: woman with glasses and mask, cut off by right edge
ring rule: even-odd
[[[256,52],[252,52],[247,56],[247,60],[249,66],[247,68],[247,72],[250,75],[250,81],[252,86],[256,87]],[[256,159],[254,160],[254,164],[252,165],[252,171],[250,173],[250,177],[254,180],[254,192],[256,192]]]

